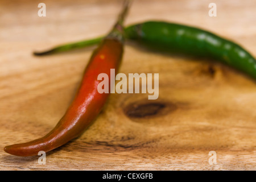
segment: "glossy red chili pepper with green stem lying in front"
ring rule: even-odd
[[[97,77],[100,73],[106,73],[110,77],[110,69],[117,71],[119,67],[123,54],[122,23],[127,9],[128,1],[125,1],[118,22],[93,52],[76,97],[55,128],[42,138],[6,146],[7,153],[32,156],[38,155],[39,151],[51,151],[81,135],[97,117],[109,96],[109,93],[98,93],[97,86],[101,81]]]

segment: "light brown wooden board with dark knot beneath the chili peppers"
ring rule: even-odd
[[[93,125],[47,153],[45,165],[38,164],[39,156],[4,152],[6,145],[42,137],[56,125],[92,48],[46,57],[34,57],[32,51],[104,35],[121,8],[117,0],[44,1],[47,16],[39,17],[40,2],[0,3],[1,170],[256,169],[255,81],[216,61],[131,42],[119,72],[159,73],[158,100],[111,94]],[[208,15],[210,2],[137,0],[126,24],[155,19],[205,28],[256,57],[255,1],[216,0],[217,17]],[[216,151],[217,164],[208,163],[210,151]]]

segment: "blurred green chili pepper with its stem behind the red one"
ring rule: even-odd
[[[249,52],[230,40],[200,28],[150,21],[126,27],[125,35],[126,39],[138,40],[155,48],[160,47],[185,55],[213,58],[256,78],[256,60]],[[100,40],[101,38],[97,38],[75,44],[66,44],[64,51],[68,51],[68,48],[73,49],[96,44]],[[92,43],[88,44],[88,42]],[[54,48],[55,52],[63,51],[62,47]],[[48,52],[51,50],[42,52],[40,55]]]

